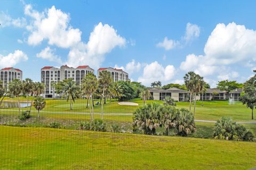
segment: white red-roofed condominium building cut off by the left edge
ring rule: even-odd
[[[22,80],[22,71],[18,68],[3,68],[0,70],[0,80],[3,81],[4,88],[8,90],[8,84],[13,79]]]

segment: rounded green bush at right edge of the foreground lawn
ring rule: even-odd
[[[214,139],[253,141],[254,135],[243,125],[239,125],[229,117],[222,117],[217,120],[213,131]]]

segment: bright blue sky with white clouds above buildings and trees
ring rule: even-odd
[[[0,68],[118,67],[149,85],[187,71],[244,82],[256,67],[255,1],[0,1]]]

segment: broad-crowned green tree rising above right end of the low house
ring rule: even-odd
[[[243,88],[243,84],[237,83],[236,81],[222,80],[218,82],[217,88],[222,91],[226,91],[229,97],[230,91],[235,90],[236,88]]]

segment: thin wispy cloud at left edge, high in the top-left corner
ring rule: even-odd
[[[17,18],[12,19],[9,14],[4,13],[3,11],[0,11],[0,23],[1,27],[25,27],[27,25],[27,21],[25,18]]]

